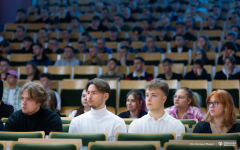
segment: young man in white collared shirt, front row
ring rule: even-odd
[[[181,121],[173,118],[164,111],[164,103],[169,92],[168,84],[162,79],[153,79],[146,86],[146,106],[148,114],[134,120],[128,133],[185,133]]]

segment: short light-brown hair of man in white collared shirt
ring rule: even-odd
[[[165,80],[163,79],[153,79],[152,81],[149,82],[149,84],[147,84],[146,86],[146,90],[149,89],[159,89],[163,92],[164,96],[168,96],[168,92],[169,92],[169,87],[168,84]]]

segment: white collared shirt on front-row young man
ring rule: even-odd
[[[130,126],[128,133],[176,133],[176,136],[181,136],[185,133],[185,127],[181,121],[173,118],[167,112],[157,121],[149,115],[143,116],[140,119],[134,120]]]

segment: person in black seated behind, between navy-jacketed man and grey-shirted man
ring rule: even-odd
[[[48,41],[48,48],[44,50],[45,53],[57,53],[57,54],[61,54],[64,51],[60,48],[58,48],[58,39],[57,38],[51,38]]]

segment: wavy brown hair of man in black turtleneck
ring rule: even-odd
[[[49,94],[40,83],[28,82],[24,84],[20,90],[20,94],[18,96],[19,99],[22,98],[24,91],[28,92],[30,99],[36,101],[37,103],[44,104],[45,101],[50,98]]]

